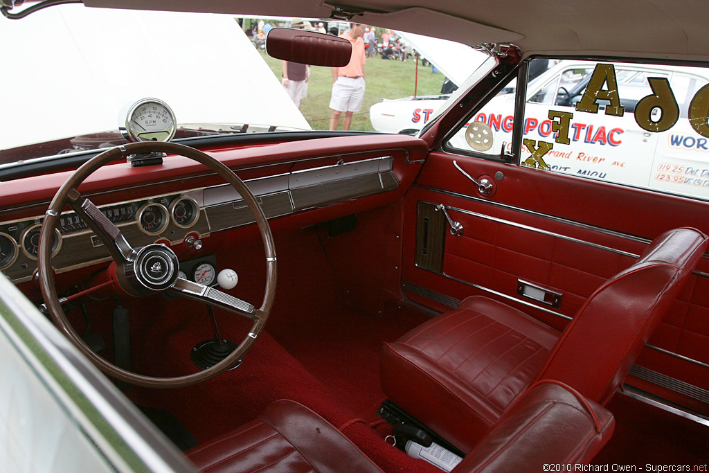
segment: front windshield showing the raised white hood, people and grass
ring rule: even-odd
[[[160,125],[152,123],[158,116],[169,123],[170,113],[175,140],[333,128],[417,133],[487,58],[450,41],[316,18],[69,4],[0,22],[12,45],[6,70],[21,71],[0,98],[4,166],[127,143],[120,128],[162,139],[146,128]],[[335,75],[269,57],[264,39],[279,27],[354,35],[362,64]],[[359,99],[350,87],[362,89]],[[146,105],[155,117],[128,116]]]

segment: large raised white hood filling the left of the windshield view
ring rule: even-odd
[[[4,23],[0,40],[4,64],[23,67],[16,93],[0,96],[12,111],[0,149],[116,130],[123,106],[145,97],[177,123],[311,128],[233,16],[64,5]],[[42,106],[23,104],[30,95]]]

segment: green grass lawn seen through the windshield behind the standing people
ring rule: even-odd
[[[279,82],[281,80],[281,60],[274,59],[259,50],[264,60]],[[399,99],[413,95],[415,82],[415,60],[406,62],[383,60],[381,56],[367,58],[364,65],[364,78],[367,89],[364,91],[362,110],[354,113],[352,130],[374,131],[369,121],[369,107],[381,99]],[[431,67],[423,67],[418,63],[417,95],[440,94],[445,76],[442,73],[432,74]],[[330,94],[333,90],[333,73],[330,67],[311,67],[311,78],[308,81],[308,96],[301,103],[301,112],[310,123],[313,130],[327,130],[328,121],[333,111],[328,107]],[[340,120],[340,128],[342,120]]]

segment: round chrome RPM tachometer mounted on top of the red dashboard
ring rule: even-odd
[[[174,113],[162,100],[141,99],[124,107],[123,111],[119,118],[123,123],[119,123],[119,128],[128,141],[169,141],[175,135]]]

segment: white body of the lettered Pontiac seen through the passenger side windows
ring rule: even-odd
[[[586,72],[576,74],[581,69]],[[709,199],[709,140],[696,138],[686,118],[689,101],[709,82],[709,77],[698,75],[698,69],[681,66],[617,64],[618,94],[626,104],[623,116],[609,116],[603,110],[599,113],[576,111],[578,93],[570,99],[571,106],[557,104],[559,96],[564,94],[559,93],[562,87],[570,91],[575,85],[583,84],[582,80],[592,71],[593,66],[588,62],[564,60],[527,88],[523,138],[554,144],[544,155],[550,169]],[[667,78],[679,103],[681,116],[666,135],[642,129],[633,113],[637,100],[652,95],[647,77]],[[491,127],[493,144],[486,152],[499,153],[503,145],[506,151],[510,150],[514,97],[514,94],[493,97],[475,116],[475,121]],[[608,102],[601,101],[601,108],[603,104]],[[574,113],[569,145],[554,143],[556,133],[548,117],[551,110]],[[659,118],[659,114],[654,116]],[[459,130],[451,138],[452,148],[472,150],[464,131],[464,128]],[[523,147],[523,159],[529,156],[529,150]],[[647,156],[654,156],[652,162]]]

